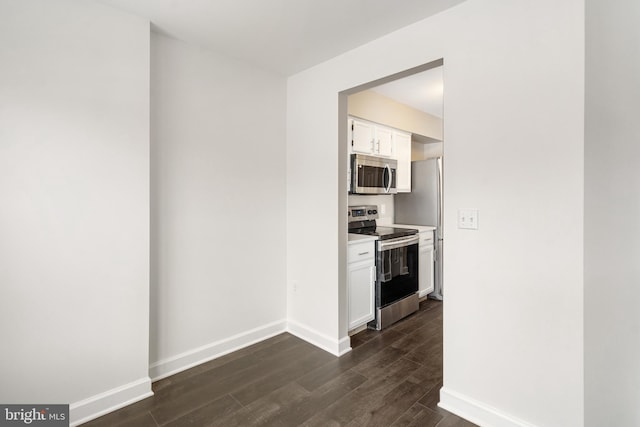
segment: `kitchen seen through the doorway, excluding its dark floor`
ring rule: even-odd
[[[443,299],[443,67],[425,68],[348,98],[350,336]]]

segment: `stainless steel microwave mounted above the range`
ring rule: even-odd
[[[395,194],[396,169],[394,159],[351,155],[351,194]]]

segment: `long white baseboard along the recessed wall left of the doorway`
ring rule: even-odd
[[[285,332],[287,330],[286,324],[287,322],[285,320],[278,320],[154,362],[149,365],[149,376],[153,381],[157,381],[210,360],[217,359],[225,354],[232,353]]]

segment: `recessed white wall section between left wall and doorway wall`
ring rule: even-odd
[[[151,376],[285,329],[285,80],[152,34]]]

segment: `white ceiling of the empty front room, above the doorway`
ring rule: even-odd
[[[156,31],[295,74],[464,0],[100,0]]]

